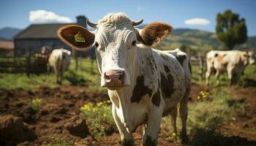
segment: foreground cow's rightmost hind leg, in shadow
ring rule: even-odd
[[[181,99],[180,108],[179,108],[179,112],[181,115],[181,124],[182,124],[181,142],[184,144],[188,143],[188,137],[187,137],[187,110],[188,110],[188,107],[187,107],[187,103],[189,101],[189,93],[190,93],[190,87],[187,88],[184,98]]]

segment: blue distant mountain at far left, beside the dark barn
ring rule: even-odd
[[[22,29],[5,27],[0,29],[1,39],[13,39],[13,37],[18,34]]]

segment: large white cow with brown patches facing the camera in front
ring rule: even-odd
[[[95,46],[101,74],[100,85],[108,88],[112,115],[122,145],[135,145],[132,133],[144,126],[143,145],[157,145],[163,116],[171,115],[176,132],[177,105],[182,122],[182,142],[187,142],[187,102],[190,72],[187,54],[181,50],[161,51],[157,45],[172,31],[166,23],[132,21],[123,12],[110,13],[89,26],[59,28],[59,38],[67,45],[86,49]]]

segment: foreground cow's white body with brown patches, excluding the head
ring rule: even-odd
[[[117,91],[124,95],[124,107],[118,108],[115,104],[118,103],[116,91],[108,90],[119,131],[132,139],[132,134],[128,132],[134,132],[139,125],[147,124],[146,134],[157,137],[162,116],[171,113],[176,132],[176,108],[181,101],[180,112],[184,128],[182,134],[186,137],[187,100],[190,90],[187,55],[180,50],[159,51],[144,45],[138,45],[136,50],[134,67],[137,72],[131,77],[131,85]],[[181,58],[182,63],[176,57]],[[123,112],[124,108],[127,115]],[[146,137],[144,140],[146,141]]]

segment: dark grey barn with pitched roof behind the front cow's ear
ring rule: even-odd
[[[57,31],[60,27],[69,24],[77,24],[86,27],[86,17],[79,15],[77,17],[77,23],[43,23],[43,24],[31,24],[29,27],[20,31],[19,34],[14,37],[15,44],[15,55],[23,55],[31,50],[31,53],[39,53],[42,46],[50,48],[50,50],[55,48],[64,47],[68,50],[72,50],[71,47],[61,42],[57,36]],[[90,55],[94,51],[86,51],[83,55]]]

